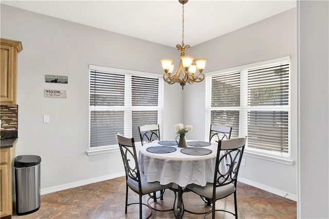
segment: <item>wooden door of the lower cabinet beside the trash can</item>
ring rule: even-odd
[[[0,166],[0,183],[1,183],[1,200],[0,200],[0,215],[6,216],[10,215],[9,212],[9,205],[11,203],[8,203],[8,196],[9,194],[9,185],[8,185],[8,165],[1,165]]]

